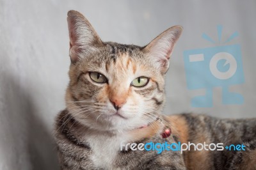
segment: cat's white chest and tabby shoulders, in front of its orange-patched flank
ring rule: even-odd
[[[59,118],[65,118],[65,114],[68,112],[61,112]],[[66,116],[67,118],[68,116]],[[134,134],[129,134],[129,132],[95,133],[84,129],[84,127],[81,129],[81,125],[74,123],[74,121],[61,127],[63,121],[65,122],[65,119],[60,119],[60,124],[57,127],[60,129],[57,137],[60,139],[58,151],[62,169],[170,169],[170,167],[186,169],[179,152],[169,151],[157,154],[156,151],[120,150],[121,143],[146,143],[150,141],[164,143],[166,140],[161,139],[160,131],[148,138],[137,139]],[[71,140],[67,133],[72,133]],[[173,142],[172,139],[167,141]]]

